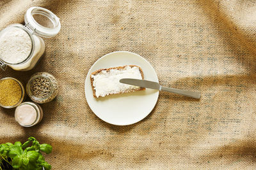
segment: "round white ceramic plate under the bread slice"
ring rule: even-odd
[[[93,113],[100,119],[113,125],[131,125],[139,122],[153,110],[159,91],[146,89],[145,91],[116,94],[106,97],[93,97],[90,74],[97,69],[125,65],[140,66],[144,79],[157,81],[157,74],[151,64],[143,57],[132,52],[112,52],[104,55],[93,64],[85,80],[85,96]]]

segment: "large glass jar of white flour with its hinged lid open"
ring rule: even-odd
[[[0,31],[0,67],[3,70],[6,66],[19,71],[33,69],[45,50],[41,37],[53,37],[60,32],[60,19],[45,8],[31,7],[24,18],[25,25],[12,24]]]

